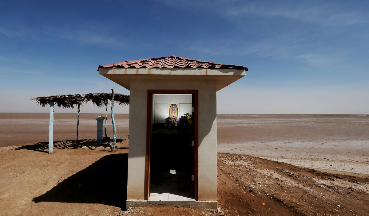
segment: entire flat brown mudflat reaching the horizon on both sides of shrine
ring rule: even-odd
[[[80,139],[96,137],[97,115],[80,114]],[[115,118],[118,138],[128,138],[129,115]],[[54,141],[75,139],[76,124],[77,114],[55,113]],[[0,113],[0,147],[46,142],[48,128],[48,113]],[[218,152],[369,174],[368,115],[218,115],[217,134]]]

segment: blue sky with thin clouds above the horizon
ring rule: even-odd
[[[111,88],[129,94],[97,66],[176,55],[249,68],[218,91],[219,114],[369,114],[369,1],[0,6],[0,112],[48,112],[30,101],[34,96]]]

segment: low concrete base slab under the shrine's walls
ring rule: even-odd
[[[130,207],[188,207],[195,209],[217,209],[217,201],[148,201],[127,199],[126,208]]]

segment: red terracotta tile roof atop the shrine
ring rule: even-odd
[[[123,61],[113,64],[99,65],[100,68],[210,68],[210,69],[237,69],[246,70],[247,67],[234,64],[219,64],[211,61],[187,59],[178,56],[167,56],[150,59],[138,59],[134,61]]]

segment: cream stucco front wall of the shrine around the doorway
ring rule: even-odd
[[[148,89],[198,90],[199,201],[217,200],[217,121],[215,80],[130,81],[130,146],[127,199],[144,199]]]

